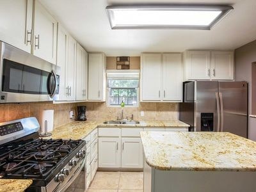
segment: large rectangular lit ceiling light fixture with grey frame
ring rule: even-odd
[[[210,30],[233,10],[224,5],[124,5],[106,7],[112,29]]]

